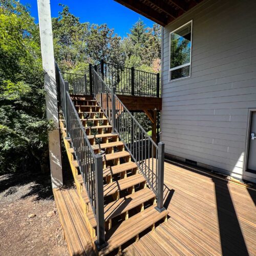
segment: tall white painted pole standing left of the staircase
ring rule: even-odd
[[[49,152],[52,187],[56,188],[63,185],[63,178],[50,0],[37,0],[37,7],[41,40],[42,66],[45,73],[47,119],[53,120],[55,126],[55,129],[49,133]]]

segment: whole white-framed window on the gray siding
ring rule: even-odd
[[[170,32],[169,81],[190,76],[192,20]]]

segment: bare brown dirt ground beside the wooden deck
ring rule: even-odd
[[[0,255],[69,255],[50,176],[0,176]]]

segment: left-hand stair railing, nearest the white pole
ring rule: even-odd
[[[60,105],[66,123],[67,138],[74,150],[78,168],[86,187],[88,197],[97,221],[97,241],[95,244],[100,250],[106,246],[104,227],[104,197],[103,197],[103,159],[100,154],[95,154],[77,114],[69,94],[69,83],[65,81],[58,70]]]

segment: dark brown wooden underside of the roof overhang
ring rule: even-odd
[[[166,26],[203,0],[115,0],[119,4]]]

